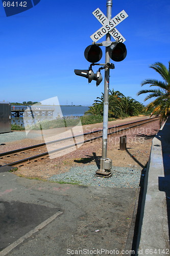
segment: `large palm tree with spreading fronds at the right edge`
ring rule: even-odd
[[[148,104],[146,110],[154,108],[152,115],[156,114],[157,116],[160,116],[160,123],[162,120],[165,121],[170,115],[170,61],[168,62],[168,65],[168,69],[161,62],[156,62],[153,65],[150,65],[150,68],[161,75],[163,81],[157,79],[145,79],[142,81],[141,86],[150,84],[150,87],[156,86],[157,89],[141,90],[137,93],[137,95],[150,93],[144,101],[156,98]]]

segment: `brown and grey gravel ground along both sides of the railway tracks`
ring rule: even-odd
[[[131,117],[123,120],[111,121],[108,127],[125,124],[149,117]],[[102,129],[102,123],[84,125],[83,131]],[[99,168],[102,156],[102,138],[95,142],[83,144],[79,148],[72,148],[60,156],[44,158],[18,168],[16,175],[45,180],[72,182],[82,185],[133,187],[139,186],[141,170],[149,160],[151,143],[159,130],[159,121],[150,122],[145,126],[124,131],[121,134],[108,136],[108,158],[112,159],[112,177],[109,179],[96,178],[95,171]],[[17,135],[21,132],[16,132]],[[127,150],[119,150],[119,137],[127,135]],[[0,152],[19,147],[42,143],[42,140],[26,138],[6,142],[0,147]],[[0,136],[1,140],[1,136]],[[76,150],[75,150],[76,149]]]

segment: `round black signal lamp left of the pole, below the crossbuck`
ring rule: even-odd
[[[102,50],[98,45],[90,45],[86,47],[84,56],[89,62],[95,63],[101,60]]]

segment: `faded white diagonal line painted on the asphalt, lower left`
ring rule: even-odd
[[[25,239],[31,237],[34,233],[38,232],[40,229],[42,229],[43,227],[45,227],[47,224],[49,224],[50,222],[52,222],[54,219],[56,219],[60,214],[62,214],[63,212],[57,212],[57,214],[54,214],[53,216],[51,216],[50,218],[48,218],[47,220],[43,221],[41,224],[39,224],[38,226],[36,226],[34,229],[32,229],[31,231],[29,231],[27,234],[25,234],[24,236],[20,237],[17,241],[15,241],[14,243],[10,244],[8,247],[6,247],[4,250],[0,251],[0,256],[5,256],[7,255],[12,249],[14,249],[16,246],[18,246],[19,244],[21,244]]]

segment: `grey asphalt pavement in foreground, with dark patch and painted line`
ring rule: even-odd
[[[0,256],[131,255],[139,188],[43,182],[9,168],[0,168]]]

